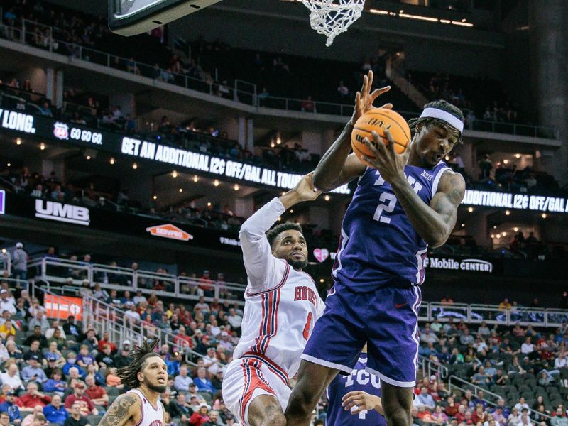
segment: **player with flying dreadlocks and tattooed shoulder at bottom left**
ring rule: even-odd
[[[99,426],[164,426],[164,408],[158,397],[168,383],[168,367],[155,352],[158,340],[145,340],[130,351],[133,361],[119,368],[122,383],[131,388],[120,395]]]

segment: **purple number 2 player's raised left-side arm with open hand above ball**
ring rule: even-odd
[[[371,92],[373,87],[373,72],[363,77],[361,92],[355,95],[355,109],[349,123],[339,135],[339,138],[324,153],[314,173],[314,185],[318,190],[331,191],[337,187],[351,182],[365,171],[365,165],[351,152],[351,132],[360,116],[373,108],[373,102],[381,94],[388,92],[390,86],[382,87]],[[385,104],[382,108],[392,108],[392,104]]]

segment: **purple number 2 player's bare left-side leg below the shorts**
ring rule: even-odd
[[[298,381],[294,387],[288,408],[286,408],[286,426],[307,426],[312,420],[312,411],[317,405],[329,383],[339,370],[320,366],[302,359],[298,370]]]

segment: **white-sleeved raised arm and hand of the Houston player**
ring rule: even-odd
[[[293,190],[280,198],[274,198],[242,224],[239,239],[249,285],[261,286],[269,278],[278,275],[277,268],[282,269],[280,272],[284,270],[283,261],[273,256],[266,231],[287,209],[298,202],[315,200],[320,194],[320,191],[314,189],[312,173],[309,173],[300,179]]]

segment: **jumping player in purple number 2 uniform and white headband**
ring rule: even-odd
[[[324,191],[359,181],[342,223],[334,286],[302,354],[286,426],[310,423],[320,395],[337,373],[351,374],[365,343],[366,371],[381,379],[387,424],[412,422],[424,261],[428,246],[447,241],[464,197],[464,178],[443,161],[461,142],[464,115],[445,101],[426,104],[408,123],[414,136],[402,154],[395,152],[388,129],[388,146],[373,132],[373,140],[365,141],[373,155],[364,158],[372,166],[367,167],[349,152],[354,123],[389,89],[371,91],[372,82],[369,72],[351,121],[314,173],[315,187]]]

